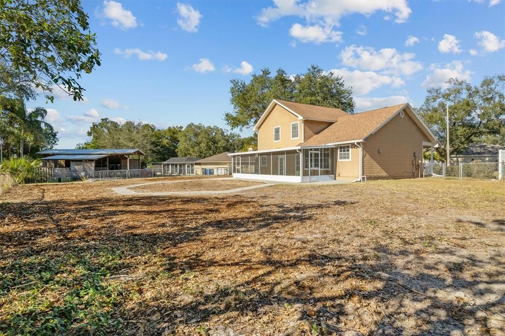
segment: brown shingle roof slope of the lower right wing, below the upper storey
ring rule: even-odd
[[[338,118],[335,123],[306,142],[301,143],[300,146],[320,146],[328,143],[364,139],[406,104],[387,106]]]

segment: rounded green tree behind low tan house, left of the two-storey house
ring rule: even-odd
[[[188,124],[179,135],[178,156],[207,157],[225,151],[236,151],[240,146],[236,133],[228,133],[217,126]]]

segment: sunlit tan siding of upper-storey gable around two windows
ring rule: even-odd
[[[291,140],[291,123],[298,122],[298,138]],[[280,126],[280,141],[274,142],[274,127]],[[258,150],[294,147],[301,141],[298,117],[276,105],[258,129]]]

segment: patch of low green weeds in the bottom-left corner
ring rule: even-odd
[[[106,277],[125,267],[124,254],[77,247],[51,257],[25,256],[3,266],[0,296],[9,296],[15,308],[0,320],[0,330],[6,334],[107,333],[114,327],[111,314],[123,290]]]

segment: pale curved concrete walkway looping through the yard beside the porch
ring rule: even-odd
[[[159,183],[197,182],[197,181],[212,181],[212,180],[248,181],[248,180],[241,180],[241,179],[234,179],[234,178],[160,181],[160,182],[147,182],[147,183],[132,184],[130,186],[112,188],[112,190],[118,194],[130,195],[130,196],[199,196],[199,195],[234,194],[234,193],[240,193],[245,190],[265,188],[265,187],[269,187],[269,186],[273,186],[275,184],[278,184],[275,182],[268,182],[268,183],[260,184],[257,186],[249,186],[249,187],[242,187],[242,188],[235,188],[235,189],[228,189],[228,190],[201,190],[201,191],[137,192],[137,191],[133,191],[130,189],[130,188],[134,188],[134,187],[147,186],[150,184],[159,184]],[[254,181],[254,182],[262,182],[262,181]]]

